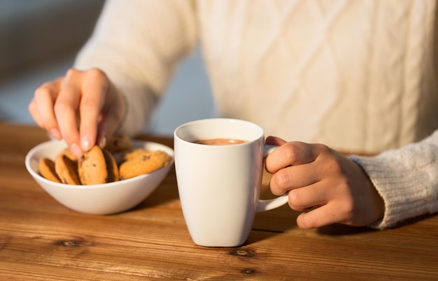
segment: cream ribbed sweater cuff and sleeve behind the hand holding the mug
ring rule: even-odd
[[[398,150],[350,158],[362,166],[385,202],[383,219],[370,227],[387,229],[438,212],[438,130]]]

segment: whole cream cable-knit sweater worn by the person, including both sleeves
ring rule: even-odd
[[[106,71],[127,97],[122,131],[137,134],[199,41],[223,116],[390,150],[351,157],[385,200],[384,229],[438,211],[437,20],[435,0],[113,0],[75,66]]]

